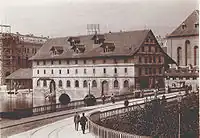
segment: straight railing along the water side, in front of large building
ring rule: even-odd
[[[176,92],[179,90],[180,89],[172,89],[171,92]],[[163,93],[165,93],[165,89],[160,89],[158,92],[158,94],[163,94]],[[144,90],[143,96],[152,96],[152,95],[154,95],[153,90]],[[139,97],[141,97],[141,96],[139,96]],[[122,95],[116,95],[115,101],[123,101],[125,99],[134,99],[134,98],[136,98],[136,92],[122,94]],[[101,97],[96,98],[96,101],[97,101],[96,104],[103,103]],[[107,96],[105,103],[110,103],[110,102],[111,102],[110,96]],[[53,104],[37,106],[37,107],[33,107],[33,108],[15,109],[13,112],[1,113],[1,117],[23,118],[23,117],[28,117],[28,116],[35,116],[35,115],[56,112],[56,111],[76,109],[76,108],[80,108],[80,107],[84,107],[84,106],[86,106],[84,103],[84,100],[72,101],[67,105],[63,105],[61,103],[57,103],[57,104],[53,103]]]

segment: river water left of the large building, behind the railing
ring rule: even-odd
[[[1,96],[0,97],[0,112],[12,111],[16,108],[30,108],[50,104],[49,100],[31,96]]]

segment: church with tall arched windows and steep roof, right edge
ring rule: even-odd
[[[199,66],[199,11],[167,36],[167,53],[180,67]]]

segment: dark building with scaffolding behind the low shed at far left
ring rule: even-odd
[[[6,85],[6,76],[19,68],[31,67],[28,59],[48,38],[11,33],[9,25],[0,25],[0,28],[0,85]]]

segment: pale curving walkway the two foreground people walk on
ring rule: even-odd
[[[176,95],[177,93],[170,93],[166,94],[166,97],[171,97]],[[162,95],[158,96],[161,97]],[[131,104],[136,103],[143,103],[144,99],[146,98],[140,98],[140,99],[133,99],[130,100]],[[86,116],[94,111],[106,111],[114,108],[120,108],[124,107],[123,101],[117,102],[115,104],[108,103],[105,105],[97,105],[92,106],[95,107],[92,111],[87,111]],[[85,107],[86,109],[92,108],[92,107]],[[79,126],[80,127],[80,126]],[[80,128],[79,131],[75,131],[74,129],[74,123],[73,123],[73,117],[66,118],[64,120],[60,120],[57,122],[54,122],[52,124],[48,124],[36,129],[29,130],[27,132],[19,133],[13,136],[10,136],[9,138],[94,138],[91,133],[86,130],[86,134],[82,134]]]

